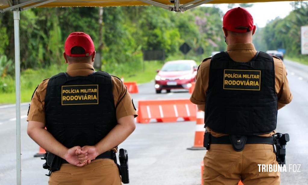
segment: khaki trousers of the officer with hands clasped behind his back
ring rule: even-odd
[[[96,159],[84,167],[68,163],[51,173],[49,185],[121,185],[119,169],[111,159]]]

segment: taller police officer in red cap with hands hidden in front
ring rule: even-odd
[[[190,101],[205,111],[204,184],[280,184],[273,150],[277,112],[292,100],[282,61],[255,50],[251,14],[227,11],[222,27],[227,51],[203,60]],[[277,168],[276,168],[277,169]]]

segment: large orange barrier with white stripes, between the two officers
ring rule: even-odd
[[[138,123],[176,122],[178,118],[195,121],[197,106],[189,99],[140,100],[138,101]]]

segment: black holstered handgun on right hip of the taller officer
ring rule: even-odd
[[[286,143],[290,141],[289,134],[276,133],[274,142],[276,146],[275,154],[278,164],[286,164]]]

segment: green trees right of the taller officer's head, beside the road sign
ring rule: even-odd
[[[308,56],[301,54],[301,26],[308,26],[308,2],[292,2],[293,11],[285,18],[276,18],[254,37],[257,50],[286,50],[286,56],[308,64]]]

